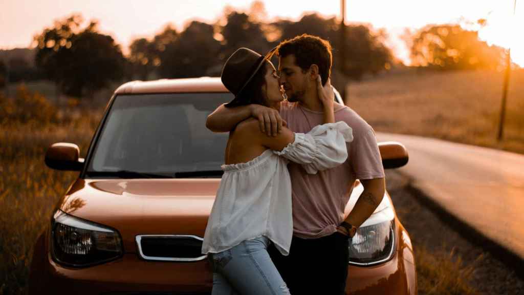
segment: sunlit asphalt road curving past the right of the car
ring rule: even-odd
[[[524,259],[524,155],[412,135],[377,133],[406,146],[399,168],[414,188]]]

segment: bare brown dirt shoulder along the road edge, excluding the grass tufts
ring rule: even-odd
[[[505,257],[500,253],[478,245],[478,241],[463,232],[464,228],[454,226],[438,208],[429,205],[427,197],[411,189],[409,179],[400,172],[387,171],[386,181],[397,215],[409,232],[415,252],[423,249],[431,256],[458,260],[459,273],[467,272],[466,283],[479,294],[524,294],[524,268],[518,266],[524,262],[505,264]],[[421,275],[419,265],[417,271],[419,294],[438,294],[425,287],[428,278]]]

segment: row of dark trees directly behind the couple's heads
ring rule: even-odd
[[[225,59],[239,47],[248,47],[265,54],[279,41],[304,33],[329,40],[333,46],[334,67],[345,62],[345,74],[354,79],[365,73],[378,73],[391,62],[391,52],[384,45],[384,31],[374,31],[364,25],[350,26],[346,30],[347,59],[337,58],[339,46],[339,23],[333,18],[325,19],[317,14],[303,16],[299,22],[278,20],[263,23],[265,10],[262,2],[254,2],[248,13],[237,12],[231,7],[224,9],[224,16],[214,26],[190,23],[180,34],[173,29],[165,31],[153,40],[138,39],[132,45],[131,60],[141,60],[144,76],[158,70],[163,78],[187,78],[219,76]],[[158,55],[158,59],[155,59]],[[147,58],[147,62],[145,61]],[[153,59],[152,59],[153,58]],[[151,60],[158,67],[149,67]]]

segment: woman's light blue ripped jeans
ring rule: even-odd
[[[286,283],[269,257],[271,242],[262,236],[209,255],[213,266],[212,295],[289,294]]]

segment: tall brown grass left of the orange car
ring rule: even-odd
[[[54,142],[73,142],[85,155],[102,110],[58,111],[24,87],[0,96],[0,294],[27,293],[32,246],[78,173],[48,168]]]

